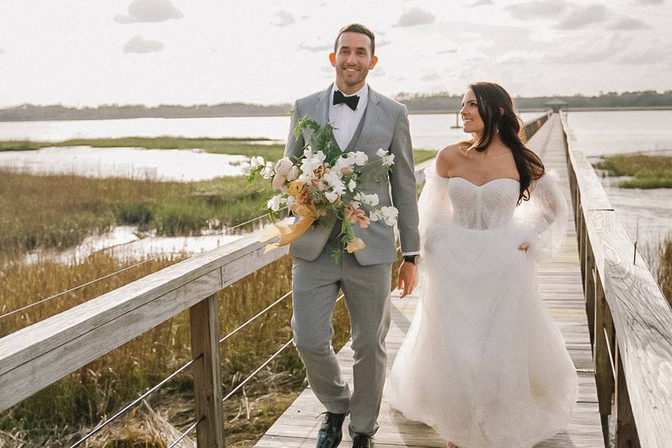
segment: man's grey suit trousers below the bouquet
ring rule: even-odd
[[[318,400],[329,412],[350,412],[351,436],[373,435],[378,429],[385,383],[392,265],[362,266],[353,254],[346,252],[336,264],[331,253],[339,244],[332,237],[316,260],[293,258],[294,344]],[[332,312],[339,289],[350,312],[354,351],[352,392],[342,378],[331,344]]]

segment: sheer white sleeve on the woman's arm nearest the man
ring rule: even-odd
[[[447,223],[453,213],[453,207],[448,195],[444,179],[436,174],[435,167],[424,169],[425,185],[418,199],[420,233],[420,255],[423,256],[429,247],[440,237],[440,223]]]

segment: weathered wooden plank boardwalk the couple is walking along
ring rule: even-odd
[[[563,193],[569,204],[569,181],[558,114],[549,118],[530,140],[529,146],[540,155],[547,169],[556,169],[559,172]],[[565,338],[566,347],[576,366],[580,386],[573,419],[567,431],[538,444],[537,447],[603,448],[577,241],[571,217],[561,256],[540,266],[538,274],[542,299]],[[386,339],[388,367],[391,367],[412,320],[416,302],[417,295],[399,300],[397,295],[393,294],[392,325]],[[339,351],[338,358],[344,378],[351,383],[352,350],[349,344]],[[323,406],[310,388],[307,388],[255,446],[262,448],[314,447],[316,433],[321,424],[321,419],[316,416],[323,411]],[[385,401],[381,405],[378,421],[380,429],[374,437],[378,448],[446,446],[446,442],[432,428],[422,423],[406,420],[400,413],[391,409]],[[344,429],[347,424],[346,420]],[[346,433],[347,431],[344,430],[342,447],[350,446]]]

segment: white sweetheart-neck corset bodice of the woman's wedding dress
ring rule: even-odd
[[[462,227],[487,230],[511,221],[520,190],[515,179],[493,179],[477,186],[462,177],[451,177],[445,183],[452,219]]]

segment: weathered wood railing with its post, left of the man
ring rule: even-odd
[[[547,115],[526,123],[531,136]],[[416,166],[416,180],[423,182]],[[0,339],[0,412],[189,310],[197,444],[224,447],[216,293],[287,255],[258,234],[161,269]]]

